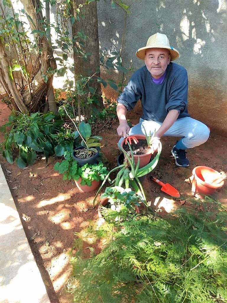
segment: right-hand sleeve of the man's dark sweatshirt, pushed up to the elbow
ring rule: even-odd
[[[178,74],[174,79],[170,91],[169,102],[166,104],[166,112],[171,109],[176,109],[182,113],[187,107],[188,103],[188,75],[186,69]]]

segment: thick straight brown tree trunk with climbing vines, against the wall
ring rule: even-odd
[[[76,9],[79,7],[80,4],[84,2],[81,0],[74,0],[72,1],[72,12],[74,18],[76,20]],[[87,57],[87,62],[85,62],[82,58],[80,58],[74,52],[74,74],[75,75],[82,75],[82,76],[100,76],[99,71],[99,40],[98,40],[98,21],[97,21],[97,5],[96,1],[89,3],[88,5],[84,5],[83,12],[85,18],[80,17],[80,22],[75,21],[72,25],[72,35],[73,37],[77,35],[77,32],[80,32],[81,28],[84,31],[84,35],[88,36],[84,41],[84,47],[78,44],[77,41],[74,41],[76,44],[75,47],[81,49],[84,53],[92,53],[92,55]],[[96,94],[101,96],[101,86],[100,83],[94,81],[90,86],[93,86],[96,89]],[[99,107],[103,108],[103,100],[99,98]]]

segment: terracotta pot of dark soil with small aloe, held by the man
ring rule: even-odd
[[[144,128],[144,127],[143,127]],[[146,130],[144,128],[145,135],[132,135],[129,136],[131,139],[130,147],[132,149],[132,153],[134,156],[134,161],[137,164],[138,158],[140,158],[140,165],[139,168],[147,165],[150,161],[151,155],[153,154],[153,149],[151,145],[153,142],[159,138],[155,137],[155,132],[153,135],[147,135]],[[130,155],[130,147],[128,144],[128,139],[123,140],[120,143],[120,146],[129,153]],[[158,143],[159,144],[159,143]]]

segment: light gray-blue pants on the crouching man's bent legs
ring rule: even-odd
[[[146,121],[140,118],[140,122],[130,128],[129,135],[144,135],[144,128],[147,135],[157,131],[162,123]],[[164,133],[164,137],[182,138],[182,143],[186,148],[193,148],[205,143],[209,138],[209,128],[202,122],[191,117],[177,119],[173,125]],[[123,138],[119,140],[121,142]]]

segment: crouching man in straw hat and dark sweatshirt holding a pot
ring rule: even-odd
[[[169,45],[166,35],[156,33],[150,36],[145,47],[138,49],[136,55],[144,60],[145,66],[132,75],[117,98],[117,133],[126,138],[143,134],[144,128],[147,134],[155,132],[153,151],[162,136],[180,137],[171,153],[176,165],[189,166],[185,150],[205,143],[209,138],[209,128],[188,114],[187,72],[172,62],[179,57],[179,52]],[[143,115],[140,122],[130,129],[127,111],[133,109],[139,99]]]

